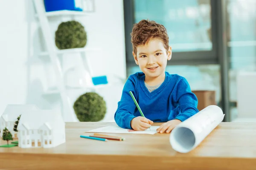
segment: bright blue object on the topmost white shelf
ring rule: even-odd
[[[44,0],[45,11],[83,11],[81,8],[76,8],[75,0]]]

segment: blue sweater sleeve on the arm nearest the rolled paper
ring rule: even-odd
[[[189,83],[185,78],[180,79],[177,83],[176,101],[180,113],[175,117],[181,122],[198,113],[197,105],[198,99],[194,93],[192,93]]]

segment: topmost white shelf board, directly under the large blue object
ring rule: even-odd
[[[91,14],[91,12],[69,11],[69,10],[45,12],[45,15],[47,17],[61,17],[61,16],[70,16],[70,15],[85,16],[85,15],[90,15],[90,14]],[[38,14],[36,14],[35,16],[38,17]]]

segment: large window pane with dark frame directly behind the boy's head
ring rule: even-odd
[[[172,46],[168,65],[216,64],[215,0],[124,0],[127,65],[134,66],[131,30],[140,20],[163,24]]]

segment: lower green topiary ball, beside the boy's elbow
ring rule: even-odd
[[[98,122],[107,112],[105,100],[95,92],[79,96],[73,108],[80,122]]]

